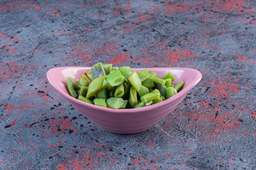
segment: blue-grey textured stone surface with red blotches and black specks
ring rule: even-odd
[[[256,169],[253,0],[1,0],[0,170]],[[203,77],[165,119],[101,130],[50,68],[188,67]]]

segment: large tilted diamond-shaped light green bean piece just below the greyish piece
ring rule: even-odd
[[[90,97],[94,96],[95,93],[97,93],[97,91],[99,91],[102,88],[102,84],[103,84],[105,77],[106,76],[101,76],[101,77],[98,77],[98,78],[92,80],[92,82],[89,84],[86,98],[90,98]]]

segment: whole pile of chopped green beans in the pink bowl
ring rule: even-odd
[[[161,78],[146,69],[136,72],[129,66],[97,63],[75,82],[67,77],[67,88],[72,97],[97,106],[141,108],[177,94],[184,82],[173,85],[174,79],[171,72]]]

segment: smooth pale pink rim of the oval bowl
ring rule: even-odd
[[[146,106],[146,107],[141,107],[141,108],[128,108],[128,109],[113,109],[113,108],[105,108],[102,106],[96,106],[94,104],[89,104],[86,102],[83,102],[79,99],[76,99],[72,96],[70,96],[69,94],[65,93],[64,91],[62,91],[61,89],[59,89],[57,86],[54,85],[54,83],[51,81],[52,77],[52,72],[54,72],[55,70],[63,70],[66,68],[84,68],[84,69],[90,69],[92,67],[83,67],[83,66],[67,66],[67,67],[55,67],[55,68],[51,68],[47,71],[46,76],[47,79],[49,81],[49,83],[56,89],[56,91],[58,91],[59,93],[61,93],[61,95],[63,95],[64,97],[66,97],[68,100],[71,100],[74,103],[80,104],[82,106],[85,107],[89,107],[92,108],[94,110],[99,110],[99,111],[109,111],[109,112],[113,112],[113,113],[134,113],[134,112],[140,112],[140,111],[150,111],[153,110],[155,108],[159,108],[161,106],[164,106],[166,104],[170,104],[171,102],[174,102],[175,100],[179,99],[180,97],[182,97],[182,95],[186,95],[186,93],[188,93],[196,84],[198,84],[200,82],[200,80],[202,79],[202,73],[200,73],[200,71],[195,70],[193,68],[183,68],[183,67],[154,67],[154,68],[132,68],[132,69],[148,69],[149,71],[151,70],[157,70],[157,69],[178,69],[178,70],[191,70],[196,72],[195,76],[195,81],[192,81],[191,84],[189,84],[188,86],[182,88],[182,90],[177,93],[176,95],[174,95],[173,97],[170,97],[169,99],[166,99],[162,102],[150,105],[150,106]],[[196,79],[197,78],[197,79]]]

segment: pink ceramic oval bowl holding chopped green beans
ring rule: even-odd
[[[143,69],[148,69],[150,72],[155,71],[160,77],[171,71],[175,77],[174,84],[183,80],[185,85],[177,95],[154,105],[132,109],[112,109],[88,104],[69,95],[66,78],[73,77],[74,80],[77,80],[82,73],[85,73],[90,68],[52,68],[47,72],[47,79],[85,117],[106,131],[119,134],[143,132],[155,125],[158,121],[166,117],[202,78],[202,74],[199,71],[191,68],[133,68],[133,71]]]

